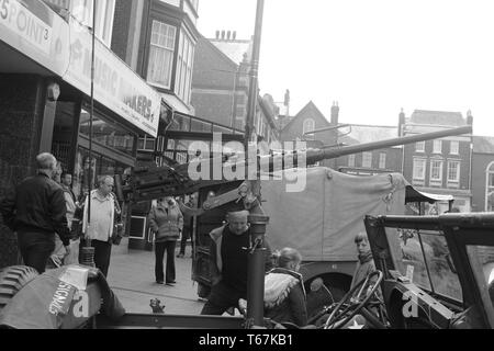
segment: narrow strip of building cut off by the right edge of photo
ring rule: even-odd
[[[472,211],[494,212],[494,137],[473,137]]]

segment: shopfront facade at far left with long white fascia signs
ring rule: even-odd
[[[138,136],[158,135],[167,115],[161,97],[110,50],[114,2],[97,5],[91,158],[92,1],[12,0],[3,8],[0,196],[33,176],[35,157],[45,151],[74,174],[74,190],[82,196],[97,176],[135,167]],[[0,235],[12,237],[5,227]],[[14,263],[14,251],[0,252],[0,264]]]

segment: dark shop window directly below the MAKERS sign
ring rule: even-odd
[[[90,114],[86,110],[80,113],[80,134],[89,138]],[[92,140],[102,146],[134,156],[135,136],[116,123],[110,123],[99,115],[92,117]]]

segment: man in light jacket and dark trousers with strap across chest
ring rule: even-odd
[[[94,264],[108,276],[110,268],[110,257],[112,253],[112,235],[117,213],[115,199],[112,190],[114,186],[113,177],[104,176],[100,178],[99,188],[91,192],[90,199],[86,199],[83,212],[82,233],[85,234],[85,246],[88,240],[94,248]],[[91,201],[91,216],[88,218],[88,204]],[[88,219],[89,224],[88,224]]]

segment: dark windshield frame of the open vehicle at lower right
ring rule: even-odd
[[[494,307],[491,304],[482,267],[472,262],[469,246],[494,247],[494,213],[447,214],[441,216],[380,216],[366,217],[366,228],[377,265],[384,269],[385,279],[403,279],[396,269],[398,238],[386,228],[411,228],[442,231],[456,268],[463,295],[463,309],[478,308],[483,325],[494,328]],[[384,234],[384,235],[383,235]],[[390,247],[393,247],[391,249]],[[393,271],[394,270],[394,271]],[[469,288],[463,288],[469,286]],[[433,295],[431,295],[433,296]],[[442,294],[440,298],[447,299]]]

